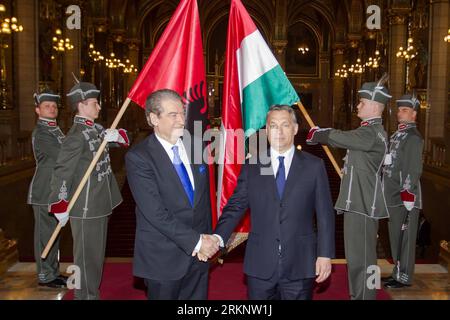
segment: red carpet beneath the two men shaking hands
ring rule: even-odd
[[[100,287],[103,300],[144,300],[145,286],[139,278],[134,278],[131,263],[107,263]],[[246,300],[247,286],[242,273],[241,262],[225,262],[223,266],[211,269],[210,300]],[[69,291],[64,300],[73,299]],[[316,286],[314,300],[348,300],[347,270],[343,264],[333,265],[333,273],[326,283]],[[384,290],[378,290],[377,300],[390,300]]]

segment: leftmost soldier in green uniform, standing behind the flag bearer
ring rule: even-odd
[[[42,250],[58,222],[53,215],[49,215],[47,208],[50,179],[64,141],[64,134],[56,123],[59,99],[59,95],[48,89],[34,94],[35,111],[39,117],[31,138],[36,170],[27,199],[34,212],[34,256],[39,285],[51,288],[63,288],[67,280],[67,277],[59,272],[59,238],[47,258],[41,259]]]

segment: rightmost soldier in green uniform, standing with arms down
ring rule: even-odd
[[[420,103],[406,94],[397,100],[398,130],[391,136],[383,183],[389,208],[389,239],[395,267],[385,287],[410,286],[414,274],[419,211],[423,139],[416,127]]]

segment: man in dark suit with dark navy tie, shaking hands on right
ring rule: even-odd
[[[250,209],[244,260],[249,299],[311,299],[314,278],[322,282],[331,273],[334,211],[328,177],[321,159],[295,149],[297,131],[291,107],[270,108],[270,161],[263,164],[260,156],[257,164],[242,166],[214,232],[223,246]]]

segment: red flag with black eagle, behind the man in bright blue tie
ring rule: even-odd
[[[196,0],[181,0],[164,33],[138,75],[128,98],[142,108],[154,91],[172,89],[186,103],[186,128],[193,132],[194,121],[208,126],[205,65]],[[200,132],[203,133],[203,132]],[[215,174],[209,166],[213,223],[217,221]]]

